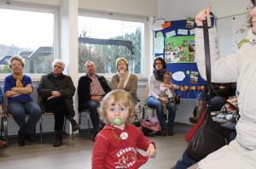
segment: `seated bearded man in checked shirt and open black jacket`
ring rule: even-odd
[[[90,110],[90,120],[95,130],[95,135],[92,139],[94,141],[96,134],[100,131],[100,118],[97,113],[98,105],[102,98],[112,89],[104,76],[96,75],[96,66],[92,61],[87,61],[84,64],[84,70],[86,75],[81,76],[79,79],[79,111],[85,108]]]

